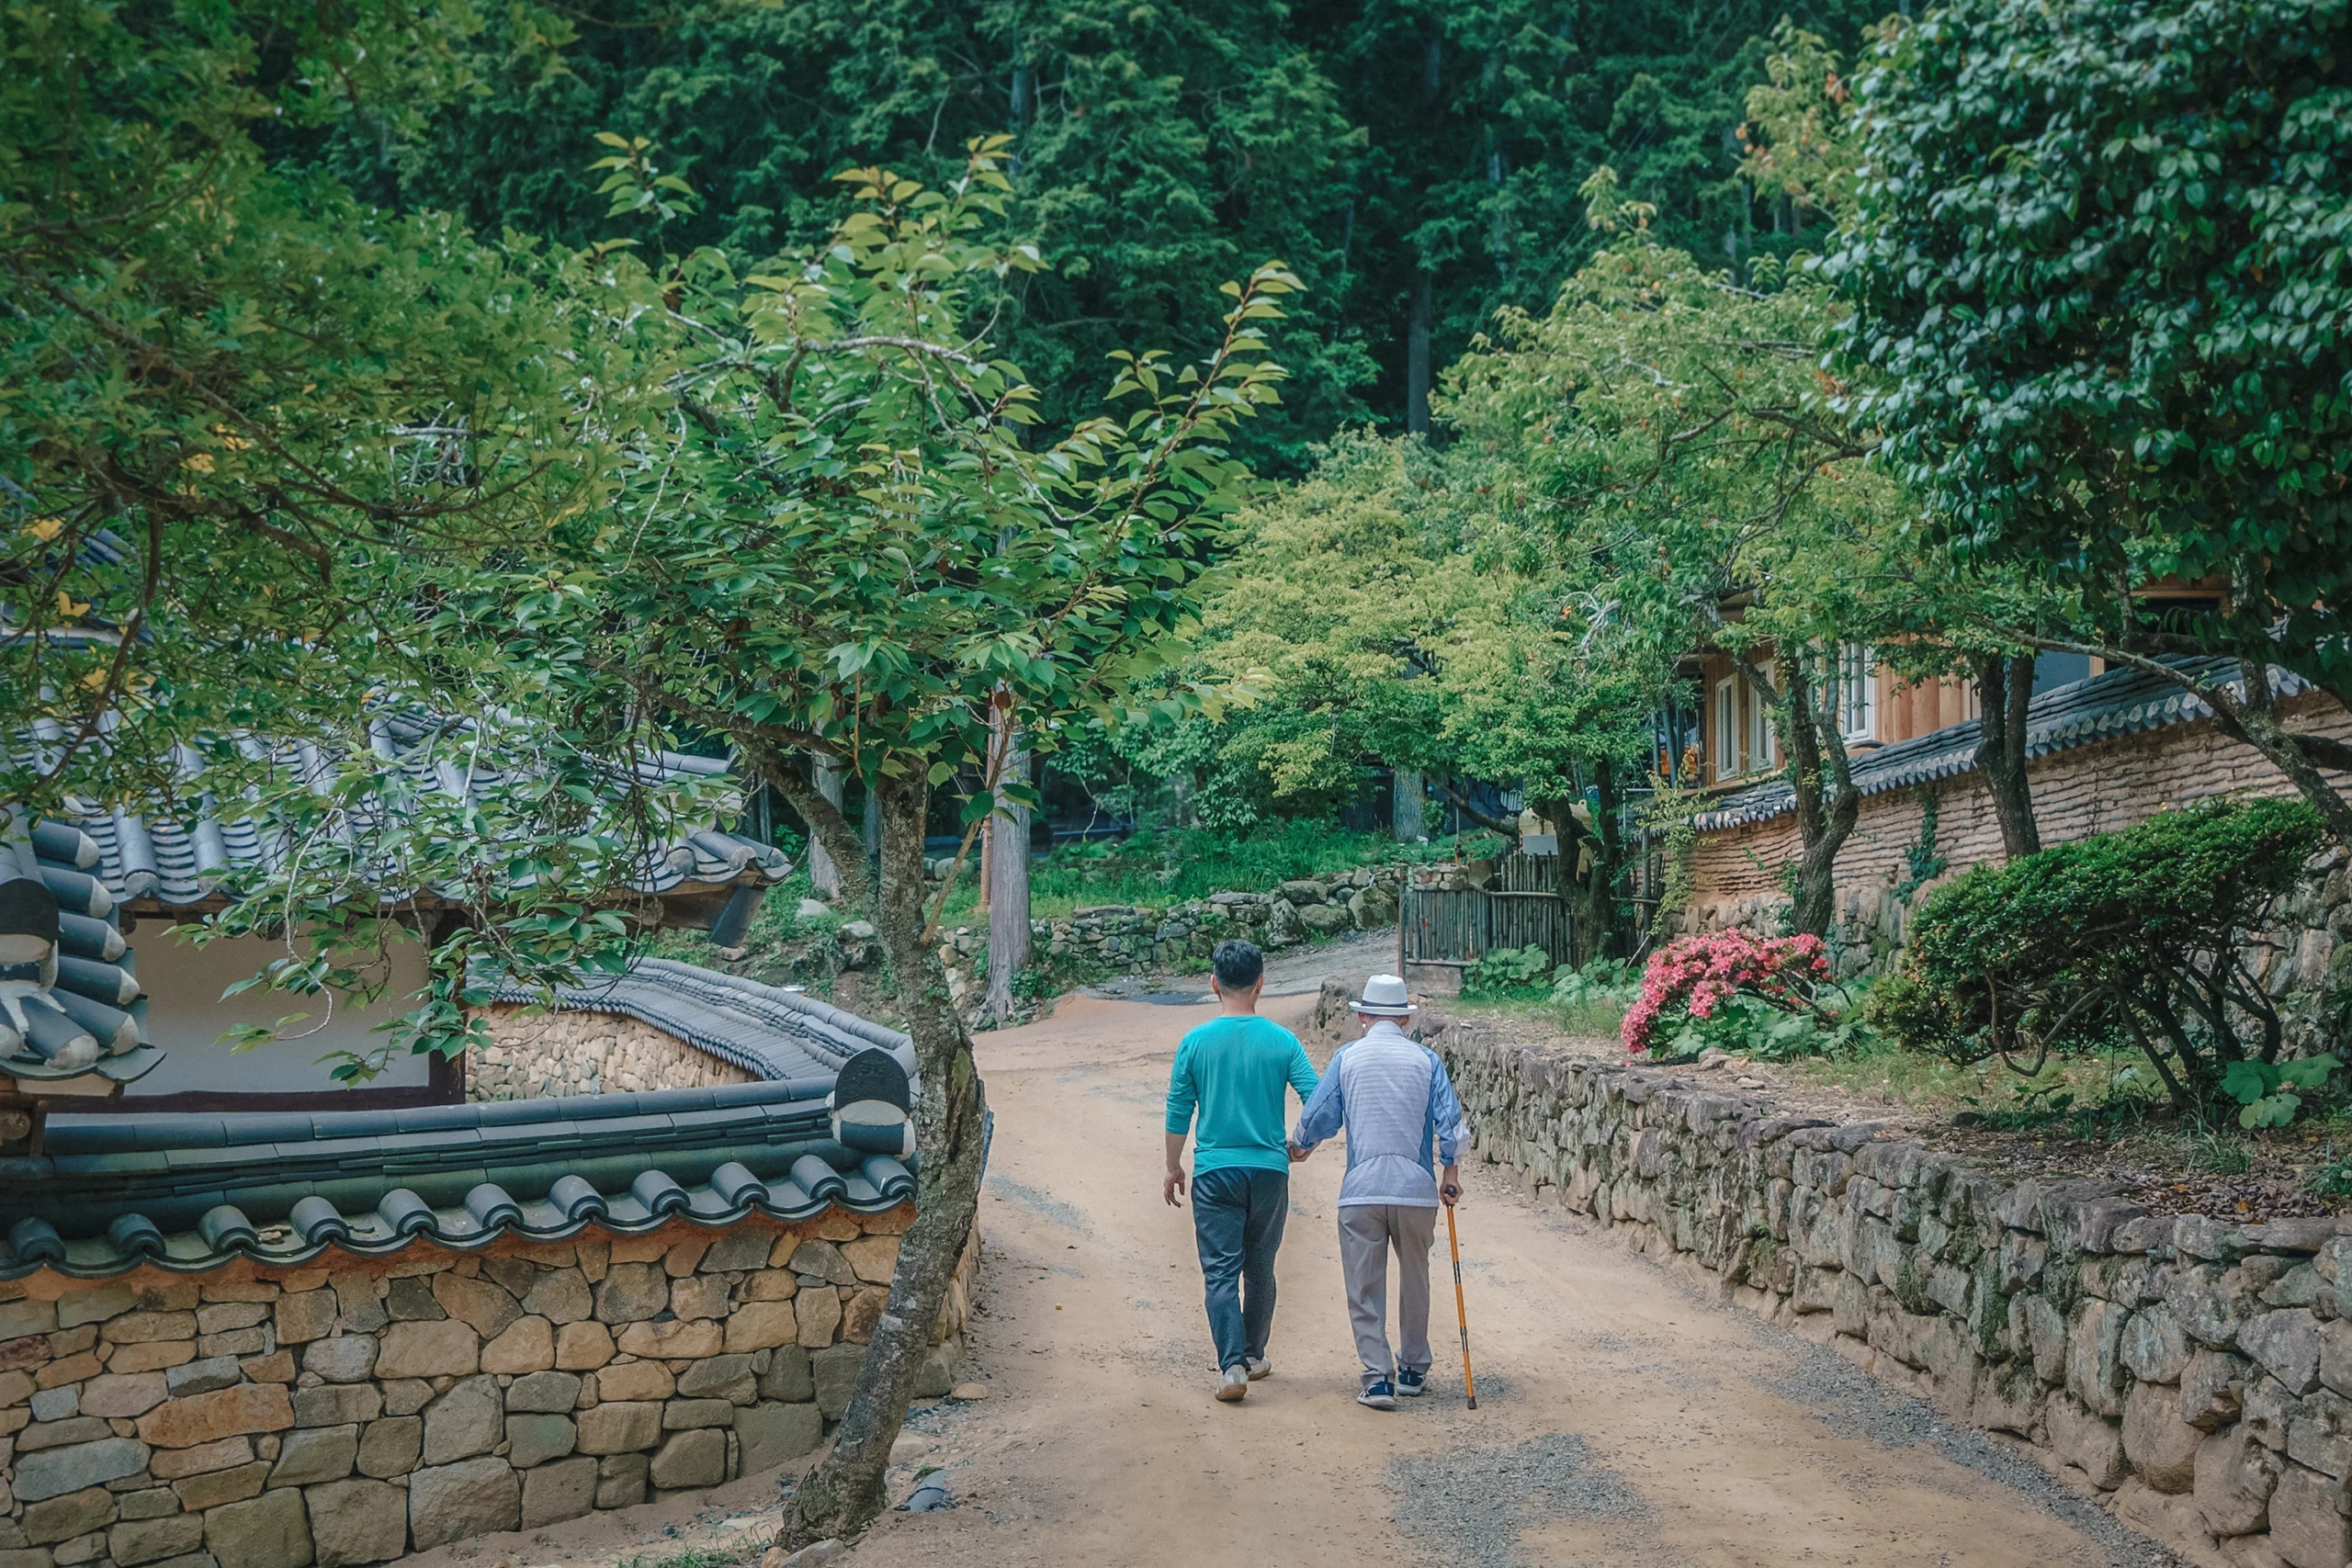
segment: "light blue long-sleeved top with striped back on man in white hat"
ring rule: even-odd
[[[1437,1208],[1430,1140],[1437,1140],[1437,1154],[1451,1166],[1468,1138],[1446,1065],[1390,1018],[1331,1053],[1315,1098],[1298,1112],[1291,1143],[1312,1150],[1341,1126],[1348,1128],[1341,1208]]]

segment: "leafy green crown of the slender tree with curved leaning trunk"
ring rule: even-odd
[[[1040,268],[983,233],[1004,160],[1002,136],[974,143],[943,193],[844,174],[833,237],[748,270],[595,254],[579,289],[628,353],[609,418],[633,482],[447,630],[508,628],[581,701],[628,691],[769,776],[804,750],[868,788],[981,766],[1000,710],[1049,745],[1148,675],[1247,482],[1218,437],[1277,400],[1261,322],[1296,280],[1225,284],[1204,364],[1122,350],[1124,418],[1030,440],[1035,388],[967,324]],[[967,816],[985,811],[983,790]]]

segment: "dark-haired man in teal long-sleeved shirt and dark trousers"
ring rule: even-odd
[[[1183,1140],[1195,1133],[1192,1239],[1209,1284],[1216,1396],[1232,1403],[1272,1371],[1265,1335],[1275,1328],[1275,1253],[1291,1208],[1282,1091],[1305,1105],[1315,1065],[1296,1034],[1258,1018],[1265,954],[1251,943],[1218,943],[1211,964],[1209,985],[1225,1011],[1176,1046],[1162,1192],[1171,1208],[1183,1201]]]

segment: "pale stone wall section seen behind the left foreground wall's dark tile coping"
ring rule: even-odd
[[[487,1006],[492,1041],[466,1051],[468,1100],[637,1093],[750,1084],[755,1077],[626,1013]]]

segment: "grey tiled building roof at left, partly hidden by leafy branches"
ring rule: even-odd
[[[513,783],[513,773],[494,764],[454,766],[447,743],[430,745],[447,741],[449,726],[416,717],[381,717],[369,729],[376,755],[421,785],[489,802]],[[247,750],[259,757],[259,745],[247,743]],[[647,783],[680,776],[717,778],[727,773],[727,762],[684,752],[649,752],[637,762],[637,773]],[[205,762],[186,748],[181,750],[176,797],[181,802],[176,809],[155,802],[139,811],[125,806],[89,809],[73,818],[73,825],[99,846],[94,870],[115,898],[153,900],[167,910],[193,907],[212,898],[212,889],[223,875],[268,867],[280,853],[268,825],[235,816],[233,802],[216,802],[205,792]],[[727,832],[713,820],[680,832],[649,853],[640,875],[630,877],[630,886],[637,893],[670,893],[687,886],[757,889],[781,882],[786,875],[790,875],[790,860],[781,849]]]

